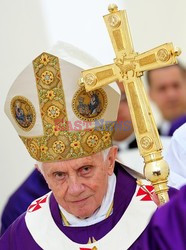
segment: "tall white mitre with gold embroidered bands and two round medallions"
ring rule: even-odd
[[[86,92],[81,71],[100,65],[74,46],[59,42],[17,77],[5,112],[30,155],[42,162],[91,155],[112,145],[120,91],[116,84]],[[104,122],[103,122],[104,121]]]

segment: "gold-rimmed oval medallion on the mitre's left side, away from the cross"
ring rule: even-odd
[[[18,126],[30,131],[36,120],[36,112],[32,103],[23,96],[15,96],[11,101],[11,113]]]

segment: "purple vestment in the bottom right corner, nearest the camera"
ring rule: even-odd
[[[146,232],[150,250],[186,249],[186,185],[154,213]]]

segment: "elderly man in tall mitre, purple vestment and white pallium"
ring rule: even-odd
[[[135,173],[115,162],[119,89],[86,93],[77,84],[86,67],[42,53],[8,93],[6,113],[52,192],[8,228],[1,249],[149,249],[146,227],[157,208],[153,187],[146,181],[138,187]],[[99,99],[94,113],[89,108],[93,94]],[[170,189],[170,196],[175,192]]]

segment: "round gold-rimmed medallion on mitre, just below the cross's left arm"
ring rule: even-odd
[[[103,115],[107,103],[107,95],[103,89],[86,92],[82,87],[73,97],[72,108],[80,120],[94,121]]]

